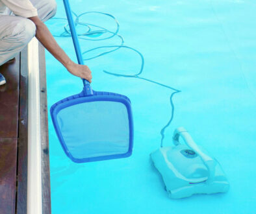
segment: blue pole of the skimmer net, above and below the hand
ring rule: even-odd
[[[75,47],[75,54],[77,55],[77,61],[80,65],[83,65],[84,64],[83,55],[81,52],[81,47],[79,45],[79,41],[77,37],[77,31],[75,30],[73,17],[70,10],[70,3],[68,0],[63,0],[63,3],[64,3],[67,18],[68,18],[68,25],[70,26],[70,32],[71,32],[73,44]],[[89,93],[88,95],[90,95],[90,93],[92,94],[92,88],[90,86],[90,82],[88,82],[88,80],[83,78],[83,84],[84,84],[84,89],[86,93]]]

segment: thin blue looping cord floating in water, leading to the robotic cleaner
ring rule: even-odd
[[[82,53],[84,61],[92,60],[92,59],[97,58],[99,56],[103,56],[103,55],[109,54],[109,53],[111,53],[113,51],[117,51],[118,49],[130,49],[131,51],[134,51],[134,53],[138,54],[140,56],[140,59],[141,59],[140,70],[138,71],[138,73],[136,75],[122,75],[120,73],[112,73],[110,71],[105,71],[105,70],[103,70],[103,72],[107,73],[108,75],[113,75],[113,76],[116,76],[116,77],[138,78],[140,80],[151,82],[153,84],[157,84],[159,86],[171,89],[173,91],[171,93],[171,95],[170,95],[170,104],[171,104],[171,107],[172,107],[171,117],[170,117],[168,123],[165,126],[163,126],[162,129],[160,130],[160,135],[161,135],[160,147],[162,147],[163,141],[164,141],[164,137],[165,137],[164,132],[165,132],[166,128],[168,128],[168,126],[170,126],[170,124],[173,121],[174,109],[175,109],[174,108],[174,104],[173,104],[173,95],[175,95],[175,93],[179,93],[181,91],[179,89],[175,89],[175,88],[172,88],[170,86],[166,86],[164,84],[161,84],[160,82],[156,82],[155,80],[149,80],[148,78],[144,78],[144,77],[140,77],[139,76],[139,75],[142,74],[143,69],[144,69],[144,57],[143,57],[142,53],[140,53],[140,51],[134,49],[133,47],[129,47],[129,46],[123,45],[124,40],[123,40],[122,36],[120,36],[118,34],[119,29],[120,29],[120,25],[119,25],[118,21],[116,20],[116,18],[114,18],[114,16],[112,16],[110,14],[103,13],[103,12],[97,12],[97,11],[84,12],[84,13],[79,14],[79,15],[75,14],[75,12],[72,12],[72,13],[75,16],[75,26],[77,27],[77,26],[80,25],[80,26],[83,26],[85,29],[87,29],[82,34],[81,33],[77,34],[79,39],[81,39],[81,40],[88,40],[88,41],[100,41],[100,40],[109,40],[110,38],[113,38],[114,36],[116,36],[116,37],[118,37],[120,39],[120,45],[100,46],[100,47],[95,47],[93,49],[89,49],[87,51],[84,51]],[[110,30],[105,29],[104,27],[101,27],[99,25],[94,25],[92,23],[86,23],[86,22],[79,21],[79,19],[82,16],[86,15],[86,14],[101,14],[103,16],[108,16],[109,18],[113,19],[114,22],[116,23],[116,30],[110,31]],[[53,18],[53,19],[62,19],[62,20],[67,21],[66,18]],[[97,30],[92,30],[92,28],[97,28]],[[106,34],[106,33],[109,33],[110,36],[107,36],[105,38],[98,38],[99,36],[102,36],[103,34]],[[64,25],[64,32],[62,32],[59,35],[53,35],[53,36],[55,36],[55,37],[71,37],[70,29],[68,27],[68,23],[66,25]],[[105,48],[113,48],[113,49],[110,50],[110,51],[105,51],[103,53],[97,54],[96,56],[92,56],[92,57],[86,58],[86,54],[90,53],[91,51],[95,51],[97,49],[105,49]]]

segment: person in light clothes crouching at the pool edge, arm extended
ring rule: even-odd
[[[44,24],[55,16],[56,10],[55,0],[0,0],[0,65],[14,61],[16,54],[36,36],[72,75],[91,82],[88,66],[73,62]],[[0,73],[0,86],[5,83]]]

